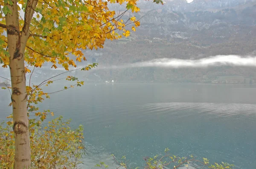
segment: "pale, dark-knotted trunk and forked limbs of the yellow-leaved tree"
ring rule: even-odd
[[[12,81],[13,131],[15,133],[14,169],[30,169],[31,153],[29,143],[29,119],[27,116],[26,74],[24,53],[29,38],[29,25],[37,0],[28,0],[25,10],[24,26],[20,32],[17,0],[12,5],[5,4],[12,13],[6,14],[7,42],[10,54],[10,73]]]

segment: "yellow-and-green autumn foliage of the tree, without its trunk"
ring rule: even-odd
[[[126,3],[126,10],[111,11],[108,2]],[[15,8],[12,7],[14,3],[18,4]],[[122,20],[127,11],[140,11],[137,0],[4,0],[0,5],[2,28],[22,32],[29,26],[24,57],[26,66],[41,67],[44,62],[52,62],[52,68],[59,64],[69,70],[70,65],[76,67],[69,54],[75,55],[78,62],[86,60],[82,50],[103,48],[106,39],[128,37],[127,25],[132,25],[133,31],[140,25],[135,16]],[[35,14],[32,14],[33,10]],[[16,15],[19,25],[5,25],[5,15],[8,14]],[[0,29],[0,62],[3,67],[9,65],[10,57],[8,39],[4,34],[6,29]],[[30,72],[27,67],[26,71]]]

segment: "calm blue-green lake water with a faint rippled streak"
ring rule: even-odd
[[[0,91],[0,120],[11,112],[8,95]],[[144,156],[167,147],[178,156],[256,168],[256,85],[86,84],[39,106],[84,125],[84,169],[99,161],[114,168],[111,154],[142,168]]]

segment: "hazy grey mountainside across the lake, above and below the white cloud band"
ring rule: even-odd
[[[141,26],[131,37],[107,41],[85,56],[99,65],[123,65],[157,58],[199,59],[215,55],[255,55],[256,0],[140,1]],[[115,8],[116,7],[116,8]],[[111,6],[119,10],[117,6]],[[256,68],[128,68],[92,70],[88,82],[253,83]]]

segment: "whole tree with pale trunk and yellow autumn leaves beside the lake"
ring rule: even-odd
[[[12,81],[13,130],[15,132],[15,169],[31,167],[26,73],[29,67],[51,62],[52,68],[65,70],[85,61],[85,49],[103,48],[106,39],[128,37],[140,25],[127,13],[140,11],[138,0],[2,0],[0,2],[0,63],[10,69]],[[154,0],[162,3],[161,0]],[[108,3],[126,6],[111,11]],[[7,34],[7,35],[6,35]]]

